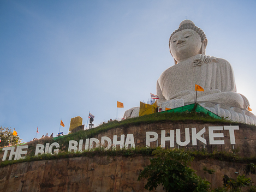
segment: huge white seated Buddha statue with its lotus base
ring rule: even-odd
[[[202,29],[190,20],[184,20],[169,39],[174,65],[157,80],[158,104],[164,110],[195,102],[195,85],[204,88],[198,92],[197,103],[219,116],[233,121],[256,124],[256,117],[248,111],[245,96],[236,93],[234,71],[222,58],[206,55],[207,38]],[[124,113],[126,118],[137,116],[134,107]]]

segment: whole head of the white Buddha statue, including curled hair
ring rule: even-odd
[[[205,55],[206,46],[205,33],[190,20],[182,21],[169,39],[169,48],[175,64],[198,54]]]

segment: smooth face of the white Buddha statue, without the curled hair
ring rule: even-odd
[[[171,37],[171,54],[178,63],[198,55],[201,46],[201,38],[193,29],[183,29]]]

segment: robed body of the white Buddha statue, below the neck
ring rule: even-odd
[[[160,102],[183,99],[194,102],[195,84],[204,88],[198,92],[197,101],[226,104],[247,109],[248,100],[236,93],[233,68],[225,59],[216,58],[211,63],[199,62],[198,55],[166,69],[157,81]]]

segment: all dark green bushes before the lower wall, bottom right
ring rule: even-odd
[[[163,190],[169,191],[210,191],[210,182],[201,179],[193,169],[188,167],[189,162],[193,161],[191,153],[180,149],[162,149],[157,148],[153,151],[154,158],[150,159],[143,171],[140,172],[138,181],[142,178],[147,179],[145,189],[152,191],[158,186],[163,186]],[[205,174],[214,174],[215,170],[203,167]],[[212,192],[228,192],[228,191],[256,191],[255,185],[252,185],[251,178],[247,178],[249,174],[256,175],[256,165],[247,164],[242,175],[238,175],[236,179],[223,176],[223,187],[213,189]]]

